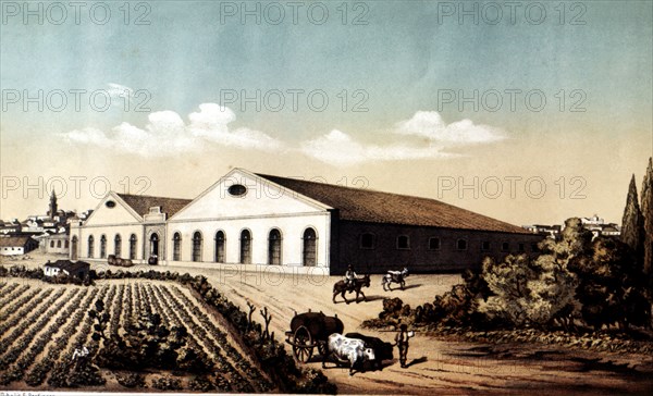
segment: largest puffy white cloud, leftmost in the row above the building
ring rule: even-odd
[[[257,150],[283,148],[281,141],[259,131],[245,127],[230,131],[227,124],[235,119],[231,109],[202,103],[199,112],[188,115],[188,124],[174,111],[167,110],[150,113],[144,128],[123,122],[108,133],[84,128],[64,133],[63,137],[75,144],[112,148],[143,157],[198,152],[207,144]]]

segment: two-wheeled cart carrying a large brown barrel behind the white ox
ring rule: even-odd
[[[286,343],[293,346],[293,355],[298,361],[306,363],[317,347],[320,355],[328,352],[326,342],[333,333],[343,334],[343,322],[335,317],[322,312],[295,313],[291,320],[291,330],[285,332]]]

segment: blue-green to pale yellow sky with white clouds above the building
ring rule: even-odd
[[[651,1],[2,1],[0,218],[232,168],[620,223],[653,151]]]

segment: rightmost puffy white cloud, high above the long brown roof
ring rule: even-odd
[[[467,119],[447,125],[436,111],[418,111],[410,120],[397,123],[395,133],[426,137],[443,146],[489,144],[506,138],[502,129],[476,125]]]

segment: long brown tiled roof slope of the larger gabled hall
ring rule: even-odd
[[[342,220],[530,234],[519,226],[435,199],[264,174],[257,175],[338,209]]]

